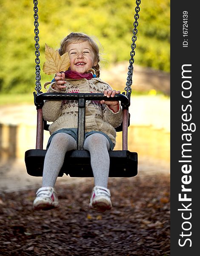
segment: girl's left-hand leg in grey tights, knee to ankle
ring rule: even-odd
[[[76,149],[76,140],[69,134],[57,133],[46,152],[43,168],[43,187],[55,186],[67,151]]]

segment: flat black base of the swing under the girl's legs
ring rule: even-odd
[[[43,175],[43,164],[46,155],[44,149],[29,149],[25,153],[27,173],[31,176]],[[137,175],[137,153],[128,150],[109,151],[109,177],[134,177]],[[71,150],[66,153],[63,167],[58,177],[63,174],[70,177],[93,177],[90,154],[87,150]]]

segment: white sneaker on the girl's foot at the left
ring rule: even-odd
[[[34,210],[50,210],[59,207],[56,191],[53,187],[41,187],[36,192]]]

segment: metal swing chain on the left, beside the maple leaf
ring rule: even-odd
[[[39,29],[38,29],[38,26],[39,26],[39,23],[38,23],[38,8],[37,8],[37,0],[33,0],[33,3],[34,3],[34,32],[35,32],[35,63],[36,63],[36,66],[35,66],[35,84],[36,84],[36,87],[35,87],[35,90],[37,91],[37,95],[40,94],[40,90],[41,90],[41,83],[40,83],[40,80],[41,80],[41,76],[40,76],[40,44],[39,44]]]

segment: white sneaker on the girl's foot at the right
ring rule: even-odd
[[[98,212],[105,212],[112,207],[110,190],[102,186],[95,186],[91,193],[89,208]]]

